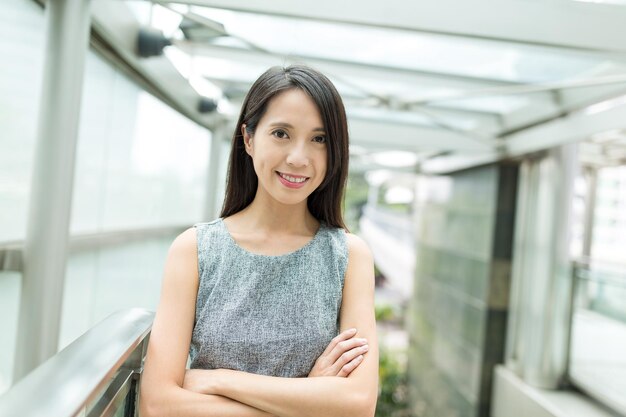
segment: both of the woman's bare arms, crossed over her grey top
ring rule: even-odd
[[[198,289],[195,231],[172,244],[141,386],[143,417],[334,417],[374,415],[378,345],[373,261],[348,235],[349,260],[340,313],[342,333],[307,378],[227,369],[185,371]],[[356,332],[346,329],[355,328]],[[367,340],[367,351],[362,339]]]

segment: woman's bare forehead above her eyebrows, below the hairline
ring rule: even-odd
[[[259,123],[288,123],[294,128],[307,130],[324,127],[317,105],[299,88],[284,91],[273,97]]]

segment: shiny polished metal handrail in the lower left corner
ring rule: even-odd
[[[110,315],[0,396],[0,416],[112,416],[124,400],[134,415],[153,319],[143,309]]]

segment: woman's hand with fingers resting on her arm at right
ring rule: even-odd
[[[349,329],[330,341],[324,353],[315,361],[309,377],[347,377],[363,362],[369,346],[366,339],[354,337],[356,329]]]

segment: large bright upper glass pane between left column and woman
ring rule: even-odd
[[[86,68],[72,233],[201,218],[209,132],[94,54]]]

